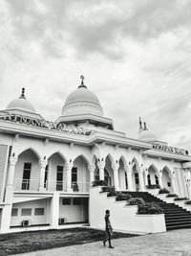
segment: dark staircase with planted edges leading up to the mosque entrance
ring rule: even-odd
[[[164,211],[166,230],[191,228],[191,213],[176,205],[167,203],[148,192],[122,192],[129,194],[132,198],[143,198],[145,202],[156,202]]]

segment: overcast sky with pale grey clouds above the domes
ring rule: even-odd
[[[190,0],[1,0],[0,109],[25,86],[55,120],[80,75],[117,130],[191,150]]]

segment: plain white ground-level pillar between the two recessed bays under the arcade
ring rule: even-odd
[[[51,228],[58,227],[58,219],[59,219],[59,193],[54,192],[53,198],[51,198],[51,215],[50,215]]]

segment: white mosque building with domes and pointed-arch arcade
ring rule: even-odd
[[[141,120],[138,139],[115,130],[83,76],[54,122],[36,112],[26,94],[23,88],[0,111],[1,233],[91,224],[95,180],[130,192],[159,185],[190,198],[188,151],[159,141]]]

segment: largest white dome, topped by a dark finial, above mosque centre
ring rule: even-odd
[[[78,88],[66,99],[62,115],[95,114],[102,116],[103,110],[96,94],[88,90],[83,80]]]

